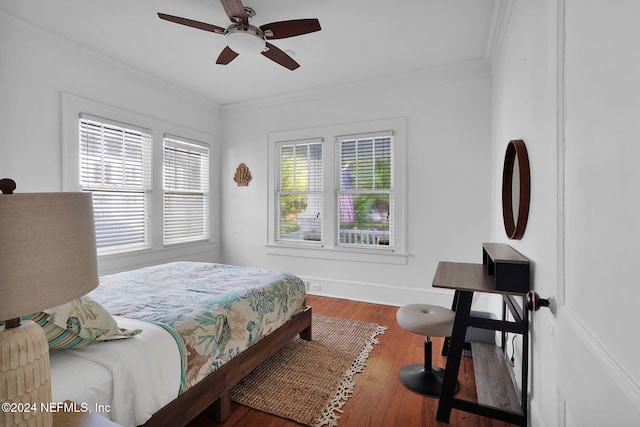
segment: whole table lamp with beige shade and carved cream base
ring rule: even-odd
[[[11,194],[8,181],[0,180],[9,193],[0,195],[0,403],[11,406],[0,425],[46,427],[49,345],[44,330],[20,316],[98,286],[93,203],[90,193]]]

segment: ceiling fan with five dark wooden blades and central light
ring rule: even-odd
[[[284,39],[320,31],[320,22],[317,19],[293,19],[256,27],[249,23],[249,19],[255,16],[255,11],[250,7],[243,6],[241,0],[220,1],[232,22],[227,28],[165,13],[158,13],[158,16],[166,21],[224,35],[227,39],[227,47],[222,50],[216,60],[216,64],[222,65],[227,65],[241,53],[260,53],[283,67],[295,70],[300,64],[267,40]]]

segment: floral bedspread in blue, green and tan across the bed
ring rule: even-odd
[[[304,283],[292,274],[196,262],[103,276],[90,295],[112,315],[173,329],[186,350],[185,390],[306,305]]]

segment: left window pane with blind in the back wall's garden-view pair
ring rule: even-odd
[[[276,240],[321,242],[322,141],[276,146]]]

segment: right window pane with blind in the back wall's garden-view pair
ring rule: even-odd
[[[337,138],[340,246],[393,247],[392,132]]]

